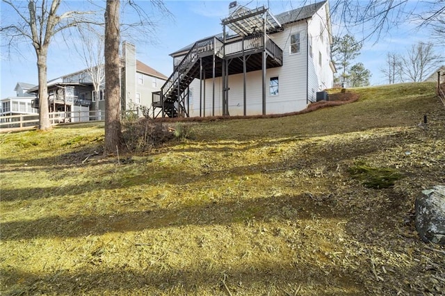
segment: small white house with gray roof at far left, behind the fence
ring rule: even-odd
[[[15,92],[17,93],[17,97],[7,97],[5,99],[1,99],[0,116],[38,113],[38,110],[32,106],[34,94],[28,92],[34,86],[35,85],[29,83],[17,83],[14,88]],[[1,122],[5,122],[5,119],[2,118]]]

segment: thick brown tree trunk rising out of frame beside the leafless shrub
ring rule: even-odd
[[[105,12],[105,151],[122,145],[120,130],[120,1],[107,0]]]

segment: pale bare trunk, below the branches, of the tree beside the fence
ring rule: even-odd
[[[51,129],[48,107],[47,49],[40,49],[39,51],[36,51],[36,54],[39,79],[39,129],[47,131],[48,129]]]

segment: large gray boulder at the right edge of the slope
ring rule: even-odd
[[[445,245],[445,186],[423,190],[415,208],[416,230],[421,239]]]

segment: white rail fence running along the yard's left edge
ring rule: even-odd
[[[93,111],[70,111],[70,112],[51,112],[49,121],[51,124],[63,124],[70,122],[90,122],[105,120],[105,113],[101,110]],[[21,114],[0,116],[0,131],[5,129],[23,129],[25,127],[38,126],[38,114]]]

